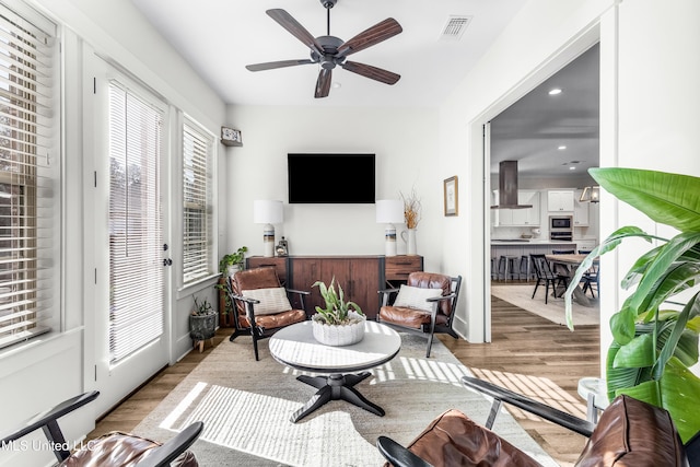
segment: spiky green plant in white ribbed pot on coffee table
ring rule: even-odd
[[[364,322],[366,317],[360,305],[346,301],[340,284],[338,292],[334,277],[329,285],[322,281],[314,282],[318,287],[326,307],[316,306],[316,314],[312,316],[314,338],[327,346],[350,346],[364,338]]]

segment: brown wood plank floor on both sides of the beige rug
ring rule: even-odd
[[[214,346],[229,335],[229,329],[219,330]],[[585,417],[585,402],[576,394],[576,384],[581,377],[599,373],[598,338],[598,326],[580,326],[571,332],[495,297],[491,343],[472,345],[440,336],[477,376],[538,396],[581,417]],[[211,345],[207,342],[202,353],[195,350],[163,370],[100,420],[89,439],[112,430],[132,430],[210,351]],[[573,465],[583,448],[583,436],[520,411],[511,412],[560,465]]]

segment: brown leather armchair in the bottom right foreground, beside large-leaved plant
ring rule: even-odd
[[[390,437],[380,436],[377,447],[388,460],[385,467],[539,467],[535,459],[491,431],[502,402],[588,437],[575,467],[692,467],[700,464],[700,433],[684,446],[666,410],[629,396],[617,397],[595,425],[485,381],[465,376],[462,383],[493,397],[486,425],[475,423],[458,410],[448,410],[433,420],[408,448]]]

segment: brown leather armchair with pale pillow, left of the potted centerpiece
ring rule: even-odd
[[[226,281],[231,303],[234,304],[235,330],[229,338],[233,341],[238,336],[252,336],[255,360],[258,355],[258,340],[272,336],[277,330],[294,323],[308,319],[304,305],[304,296],[311,292],[283,289],[273,267],[253,268],[236,272]],[[280,294],[280,289],[285,293]],[[260,291],[260,292],[253,292]],[[278,292],[268,301],[260,293]],[[280,296],[282,295],[282,296]],[[293,295],[293,296],[292,296]],[[280,299],[298,299],[296,302],[284,302]],[[275,302],[275,303],[271,303]],[[292,305],[294,303],[294,305]],[[256,307],[258,313],[256,313]]]

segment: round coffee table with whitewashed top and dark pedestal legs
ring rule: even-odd
[[[283,365],[327,376],[300,375],[296,380],[318,390],[292,415],[296,422],[330,400],[342,399],[380,417],[384,409],[369,401],[354,385],[371,375],[363,371],[388,362],[401,348],[400,336],[375,322],[364,325],[364,339],[352,346],[331,347],[314,339],[311,322],[287,326],[270,338],[270,353]],[[361,372],[353,374],[353,372]]]

